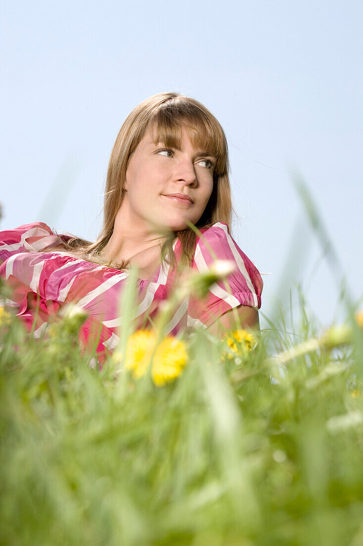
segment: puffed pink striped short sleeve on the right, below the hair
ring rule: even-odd
[[[196,243],[193,269],[206,271],[217,259],[231,260],[235,271],[225,281],[214,283],[203,300],[190,296],[188,326],[208,327],[223,313],[239,305],[259,309],[263,288],[261,275],[229,234],[227,224],[217,222],[201,232],[202,237]]]

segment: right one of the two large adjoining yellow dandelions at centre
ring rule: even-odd
[[[152,367],[152,378],[158,387],[173,381],[187,362],[185,343],[167,336],[156,349]]]

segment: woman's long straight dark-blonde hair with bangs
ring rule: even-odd
[[[144,134],[156,130],[156,141],[168,147],[180,147],[181,127],[185,127],[195,148],[207,150],[217,159],[213,173],[213,190],[205,210],[196,223],[198,229],[208,228],[216,222],[231,225],[234,213],[229,184],[229,159],[227,139],[220,123],[211,112],[197,100],[180,93],[159,93],[132,110],[126,117],[114,143],[108,163],[106,187],[104,193],[103,225],[95,242],[56,233],[68,251],[77,251],[77,255],[89,262],[125,269],[130,260],[115,262],[100,256],[102,248],[110,240],[117,212],[124,197],[124,180],[129,158],[140,143]],[[70,237],[69,237],[70,235]],[[166,255],[170,263],[176,266],[173,243],[178,238],[181,242],[180,263],[191,265],[195,251],[196,234],[191,228],[174,231],[161,249],[162,260]]]

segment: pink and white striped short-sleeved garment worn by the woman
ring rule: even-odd
[[[217,222],[201,232],[203,239],[197,239],[192,268],[207,270],[215,254],[217,259],[233,260],[237,270],[227,277],[231,290],[227,291],[221,281],[210,287],[203,300],[189,295],[181,303],[167,325],[167,332],[173,335],[180,331],[190,333],[194,327],[208,327],[238,305],[261,307],[261,275],[233,240],[227,224]],[[0,232],[0,259],[4,260],[0,276],[13,288],[12,299],[0,301],[0,305],[15,308],[29,332],[36,321],[33,335],[40,337],[49,328],[52,314],[69,302],[76,303],[88,313],[80,330],[81,346],[100,336],[96,356],[101,364],[119,341],[117,333],[122,316],[118,305],[128,272],[87,262],[66,252],[41,252],[61,242],[43,222]],[[178,239],[173,249],[178,261],[181,255]],[[160,302],[170,294],[175,273],[176,270],[164,264],[148,280],[137,280],[136,317],[137,322],[140,319],[140,327],[150,324],[149,317],[153,320]]]

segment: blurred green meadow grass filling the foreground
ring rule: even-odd
[[[0,543],[363,544],[363,325],[301,317],[196,331],[160,387],[2,310]]]

